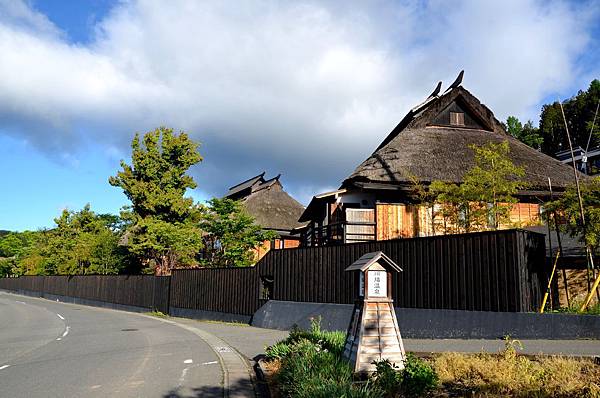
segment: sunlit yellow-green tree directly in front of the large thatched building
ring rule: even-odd
[[[447,226],[444,232],[471,232],[498,229],[509,222],[514,195],[525,186],[522,167],[509,157],[508,141],[483,146],[472,145],[475,165],[462,184],[434,181],[430,190],[441,206]]]

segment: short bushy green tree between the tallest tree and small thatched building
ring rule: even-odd
[[[202,211],[200,226],[205,232],[205,266],[250,266],[256,260],[252,250],[276,237],[257,225],[241,202],[231,199],[211,199]]]

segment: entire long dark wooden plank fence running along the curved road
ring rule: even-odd
[[[358,287],[344,269],[363,254],[379,250],[404,270],[392,282],[399,307],[535,311],[547,280],[544,236],[506,230],[271,250],[255,267],[175,270],[171,278],[21,277],[0,279],[0,288],[165,313],[171,306],[252,316],[267,298],[352,303]]]

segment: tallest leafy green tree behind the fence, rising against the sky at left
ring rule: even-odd
[[[136,134],[131,149],[132,164],[121,161],[122,170],[109,179],[131,201],[122,213],[130,252],[162,274],[193,264],[201,247],[199,210],[185,194],[197,186],[188,171],[202,161],[198,144],[184,132],[160,127],[142,139]]]

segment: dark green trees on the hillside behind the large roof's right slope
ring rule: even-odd
[[[579,91],[577,95],[563,103],[565,118],[567,119],[574,147],[586,148],[598,101],[600,101],[600,80],[595,79],[586,91]],[[600,121],[596,120],[590,147],[600,143],[599,124]],[[558,151],[569,149],[565,124],[558,102],[546,104],[542,107],[539,131],[544,140],[542,152],[554,156]]]

